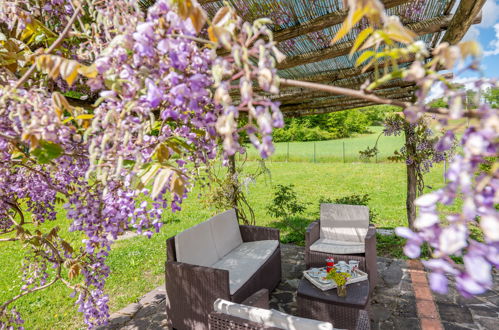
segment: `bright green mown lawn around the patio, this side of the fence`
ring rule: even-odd
[[[248,169],[256,163],[249,162]],[[318,216],[318,200],[321,196],[337,198],[350,194],[369,194],[370,206],[380,215],[377,225],[395,227],[406,223],[405,216],[405,167],[402,164],[381,163],[267,163],[271,180],[260,177],[249,187],[248,200],[254,207],[259,225],[276,226],[275,219],[266,214],[265,206],[271,199],[271,184],[294,184],[301,200],[310,203],[302,220],[313,221]],[[438,166],[427,175],[427,184],[433,188],[442,186],[442,167]],[[112,311],[117,311],[136,301],[140,296],[164,282],[166,238],[205,220],[216,210],[198,198],[195,189],[176,214],[165,212],[165,225],[161,233],[152,239],[136,237],[117,242],[109,256],[112,275],[107,283]],[[81,241],[80,234],[68,233],[69,223],[64,214],[52,223],[63,228],[62,235],[73,242]],[[285,234],[285,232],[283,233]],[[21,286],[19,258],[20,246],[16,243],[3,245],[0,250],[0,301],[19,292]],[[19,300],[17,307],[26,319],[27,329],[82,327],[80,314],[73,307],[74,299],[62,285],[35,293]]]

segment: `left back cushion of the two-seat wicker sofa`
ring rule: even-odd
[[[219,259],[208,222],[201,222],[175,236],[177,261],[211,266]]]

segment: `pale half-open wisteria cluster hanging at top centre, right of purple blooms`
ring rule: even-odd
[[[224,150],[228,155],[241,151],[238,131],[244,130],[263,158],[274,152],[273,128],[282,127],[284,120],[279,103],[262,95],[279,91],[277,61],[284,55],[272,42],[272,31],[267,19],[258,19],[250,24],[243,22],[233,9],[220,11],[214,18],[212,39],[219,41],[229,56],[219,57],[213,65],[215,103],[222,106],[217,119],[217,131],[224,138]],[[266,42],[264,38],[270,40]],[[253,81],[258,82],[254,86]],[[260,93],[258,93],[258,89]],[[233,101],[233,90],[239,91],[237,104]],[[238,129],[240,113],[247,117],[247,124]]]

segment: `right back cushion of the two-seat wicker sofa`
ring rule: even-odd
[[[210,220],[215,248],[219,258],[223,258],[230,251],[243,243],[239,223],[234,209],[220,213]]]

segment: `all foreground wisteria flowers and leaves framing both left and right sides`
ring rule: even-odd
[[[366,95],[402,78],[419,87],[416,102],[403,105],[410,123],[426,112],[438,112],[442,127],[449,119],[474,118],[446,174],[449,184],[417,200],[417,231],[397,232],[408,239],[410,257],[419,256],[423,243],[430,246],[433,258],[425,265],[434,290],[445,292],[451,275],[463,294],[482,293],[499,264],[499,166],[495,161],[479,171],[487,157],[497,156],[498,111],[487,104],[466,111],[465,92],[437,73],[478,50],[470,42],[442,44],[426,61],[429,51],[378,0],[347,3],[350,13],[334,42],[355,26],[373,25],[379,29],[362,34],[353,51],[386,43],[378,55],[416,58],[410,68],[387,70],[365,84]],[[417,15],[420,4],[406,15]],[[223,7],[206,25],[206,13],[190,0],[158,0],[147,13],[131,0],[15,0],[0,9],[0,243],[20,241],[31,252],[20,293],[0,303],[0,328],[22,328],[11,304],[58,282],[73,289],[94,328],[109,316],[106,257],[119,234],[130,227],[148,236],[159,230],[162,212],[180,209],[192,171],[212,160],[219,145],[225,157],[242,151],[242,131],[262,157],[272,154],[272,129],[283,121],[268,95],[279,91],[276,63],[283,56],[268,20],[245,23]],[[55,42],[54,52],[44,54]],[[444,84],[449,109],[425,102],[437,82]],[[68,90],[83,91],[94,104],[70,104],[61,94]],[[447,130],[437,152],[449,150],[454,140]],[[438,211],[458,199],[459,212]],[[57,227],[43,226],[57,216],[57,204],[63,204],[70,230],[86,235],[81,248],[59,236]],[[481,241],[470,237],[470,226],[481,228]],[[454,256],[462,256],[464,268]]]

